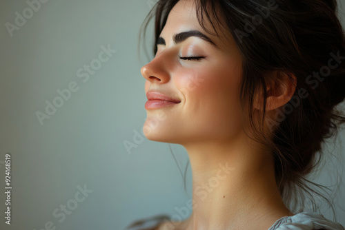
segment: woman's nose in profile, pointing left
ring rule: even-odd
[[[166,83],[170,79],[166,66],[168,62],[163,60],[161,55],[155,56],[150,63],[141,67],[141,75],[150,83]]]

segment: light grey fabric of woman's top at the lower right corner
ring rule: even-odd
[[[344,227],[331,220],[324,218],[320,213],[304,211],[295,216],[280,218],[268,230],[345,230]]]

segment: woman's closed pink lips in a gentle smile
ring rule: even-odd
[[[172,98],[157,91],[149,91],[146,93],[146,96],[148,98],[148,101],[145,103],[146,109],[158,109],[161,107],[177,105],[181,102],[177,98]]]

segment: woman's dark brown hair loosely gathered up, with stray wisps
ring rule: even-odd
[[[168,14],[178,1],[158,1],[144,21],[145,36],[148,23],[155,17],[154,54]],[[306,176],[319,164],[326,138],[335,136],[345,123],[336,106],[345,97],[345,40],[337,18],[337,1],[199,0],[195,6],[201,27],[208,31],[204,25],[207,20],[214,29],[230,32],[242,53],[240,96],[255,134],[251,138],[272,148],[275,178],[284,202],[303,202],[297,199],[298,191],[311,198],[313,194],[326,198],[312,186],[326,187]],[[215,30],[217,34],[222,31]],[[268,121],[273,138],[266,138],[262,129],[266,73],[274,71],[296,76],[297,85],[293,98],[276,109],[275,119]],[[264,89],[261,119],[253,116],[259,88]]]

